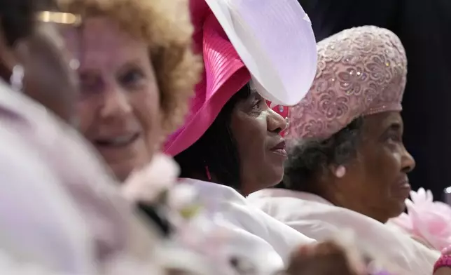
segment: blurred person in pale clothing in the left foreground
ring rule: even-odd
[[[1,273],[164,274],[155,227],[64,122],[75,121],[79,95],[74,62],[50,23],[74,22],[32,4],[0,4]]]

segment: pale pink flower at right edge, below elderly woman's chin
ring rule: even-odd
[[[437,250],[451,245],[451,207],[440,201],[433,201],[430,190],[423,188],[410,192],[412,200],[405,200],[408,214],[391,219],[392,224],[401,227],[413,239],[424,241]]]

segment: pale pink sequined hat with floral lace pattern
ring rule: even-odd
[[[380,27],[356,27],[317,46],[317,75],[290,110],[289,137],[327,138],[359,116],[401,111],[407,59],[398,36]]]

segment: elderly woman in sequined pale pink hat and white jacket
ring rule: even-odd
[[[347,29],[318,43],[318,69],[291,108],[283,189],[254,206],[318,241],[349,229],[385,267],[429,274],[438,253],[385,222],[405,210],[415,161],[403,145],[407,60],[387,29]]]

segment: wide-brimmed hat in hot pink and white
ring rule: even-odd
[[[184,125],[167,139],[172,156],[193,145],[249,81],[275,104],[298,103],[317,64],[311,23],[296,0],[191,0],[190,8],[204,76]]]

